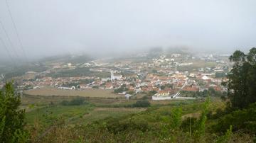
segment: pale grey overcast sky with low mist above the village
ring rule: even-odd
[[[256,46],[255,0],[7,0],[28,58],[186,46],[232,52]],[[23,57],[6,0],[2,38]],[[0,56],[9,57],[0,41]]]

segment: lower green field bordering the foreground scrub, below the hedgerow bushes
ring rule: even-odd
[[[33,125],[35,120],[48,124],[47,115],[51,118],[61,118],[66,125],[76,123],[87,124],[108,117],[119,118],[123,115],[138,113],[145,108],[97,108],[91,105],[49,105],[26,112],[26,121]]]

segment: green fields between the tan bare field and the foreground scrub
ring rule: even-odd
[[[67,124],[87,124],[108,117],[119,118],[122,115],[138,113],[145,108],[118,108],[136,101],[115,98],[85,98],[84,105],[61,105],[61,101],[71,101],[77,96],[30,96],[21,98],[21,108],[26,109],[26,121],[33,125],[35,121],[48,124],[47,117],[64,120]],[[115,108],[113,108],[115,107]]]

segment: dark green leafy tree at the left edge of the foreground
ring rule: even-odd
[[[0,142],[28,142],[28,132],[24,130],[25,110],[21,110],[21,97],[14,93],[11,82],[0,91]]]

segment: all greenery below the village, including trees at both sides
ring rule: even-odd
[[[230,60],[234,67],[228,74],[228,83],[223,83],[228,88],[227,96],[213,88],[194,92],[201,98],[193,101],[33,96],[29,98],[33,105],[27,101],[22,106],[29,107],[26,126],[24,113],[18,110],[19,96],[14,96],[11,84],[6,84],[1,92],[1,139],[15,139],[15,142],[255,142],[256,48],[248,55],[236,51]],[[122,86],[118,92],[121,91],[126,91],[126,87]],[[154,93],[141,94],[146,97]],[[8,115],[12,120],[6,120]],[[10,129],[3,130],[4,127]]]

